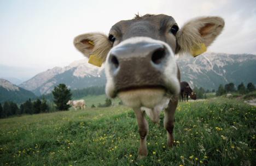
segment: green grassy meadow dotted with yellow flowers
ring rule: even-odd
[[[1,119],[0,164],[256,165],[256,107],[225,98],[183,102],[172,149],[163,117],[160,127],[149,121],[149,154],[140,161],[135,115],[124,106]]]

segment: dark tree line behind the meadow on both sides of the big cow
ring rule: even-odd
[[[226,93],[238,92],[240,94],[246,94],[255,90],[255,86],[253,83],[248,83],[247,87],[243,83],[235,88],[234,83],[228,83],[224,86],[222,84],[219,85],[218,90],[216,91],[217,96],[224,95]],[[210,92],[210,90],[205,90],[202,87],[195,87],[193,90],[196,93],[197,99],[205,99],[206,93]],[[45,97],[42,99],[37,99],[31,101],[28,99],[26,102],[20,104],[20,107],[12,101],[7,101],[2,104],[0,103],[0,118],[6,118],[8,116],[20,115],[20,114],[38,114],[38,113],[48,113],[54,112],[56,110],[68,110],[70,105],[67,104],[69,100],[72,100],[72,96],[74,97],[83,97],[86,95],[100,95],[104,94],[104,87],[90,87],[82,90],[71,90],[67,88],[65,84],[59,84],[54,87],[54,90],[51,93],[54,104],[50,102],[48,104],[46,102]],[[212,92],[215,92],[213,89]],[[109,107],[112,105],[110,99],[106,99],[104,104],[98,104],[98,107]],[[92,107],[95,107],[93,104]]]

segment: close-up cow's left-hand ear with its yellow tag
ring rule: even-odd
[[[101,33],[86,33],[74,38],[74,46],[82,52],[85,57],[89,58],[89,63],[92,58],[93,63],[95,60],[96,63],[99,63],[99,61],[103,63],[113,45],[108,40],[107,35]]]

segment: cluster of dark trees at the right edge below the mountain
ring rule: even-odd
[[[234,93],[234,92],[237,92],[239,94],[246,94],[254,90],[256,90],[255,86],[251,82],[248,83],[246,87],[245,87],[245,84],[243,84],[242,82],[237,86],[237,89],[235,87],[235,84],[231,82],[231,83],[225,84],[224,86],[223,84],[220,84],[218,90],[216,91],[216,96],[222,96],[224,94]]]

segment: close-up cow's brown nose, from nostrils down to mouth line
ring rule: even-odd
[[[164,87],[167,58],[171,53],[165,45],[139,42],[124,44],[111,50],[108,73],[117,91],[139,87]]]

